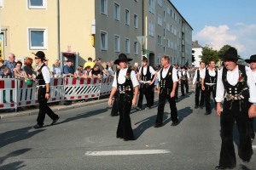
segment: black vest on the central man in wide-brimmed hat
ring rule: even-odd
[[[131,69],[130,68],[127,69],[126,76],[125,76],[125,83],[123,83],[123,84],[119,84],[119,72],[120,72],[120,70],[116,71],[116,82],[117,82],[117,89],[119,91],[119,94],[129,94],[133,98],[133,85],[131,82]]]

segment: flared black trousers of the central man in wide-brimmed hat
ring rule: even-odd
[[[133,140],[133,132],[131,128],[131,97],[125,94],[119,94],[119,126],[116,132],[116,137],[121,139]]]

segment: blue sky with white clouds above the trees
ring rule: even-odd
[[[193,28],[192,40],[219,50],[229,44],[242,59],[256,54],[256,0],[171,0]]]

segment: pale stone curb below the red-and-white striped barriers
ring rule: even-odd
[[[108,102],[108,99],[99,99],[99,100],[94,100],[94,101],[88,101],[86,103],[76,103],[72,105],[53,105],[49,106],[50,109],[54,112],[58,111],[67,111],[67,110],[72,110],[80,107],[86,107],[89,105],[97,105],[101,104],[104,102]],[[20,117],[20,116],[32,116],[32,115],[38,115],[39,109],[33,109],[30,111],[20,111],[20,112],[15,112],[15,113],[2,113],[0,114],[0,120],[1,119],[8,119],[8,118],[14,118],[14,117]]]

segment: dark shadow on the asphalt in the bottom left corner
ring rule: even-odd
[[[26,167],[25,165],[21,165],[24,161],[15,161],[15,162],[11,162],[7,165],[3,165],[3,161],[5,161],[11,157],[20,156],[20,155],[26,153],[28,150],[31,150],[31,149],[15,150],[14,152],[11,152],[6,156],[0,157],[0,169],[16,170],[16,169],[20,169],[22,167]]]

